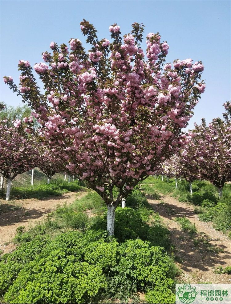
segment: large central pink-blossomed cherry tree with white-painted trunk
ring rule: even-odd
[[[34,65],[44,94],[28,61],[19,61],[19,88],[4,79],[33,108],[43,140],[55,147],[69,174],[86,180],[103,198],[113,235],[116,206],[184,145],[180,131],[205,90],[204,66],[192,59],[164,65],[168,44],[160,42],[159,33],[148,34],[145,61],[142,24],[133,23],[124,41],[117,24],[109,27],[111,42],[99,40],[86,20],[81,30],[89,52],[79,39],[69,41],[70,53],[67,45],[51,42],[53,53],[43,52],[47,64]]]

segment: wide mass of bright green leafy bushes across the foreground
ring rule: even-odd
[[[119,244],[107,231],[88,230],[22,243],[3,255],[0,273],[6,302],[92,303],[106,296],[128,300],[147,288],[164,298],[177,270],[161,247],[142,240]]]

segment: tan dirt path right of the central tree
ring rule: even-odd
[[[217,266],[231,265],[231,240],[225,234],[213,229],[212,223],[201,222],[192,205],[164,195],[160,200],[148,197],[148,202],[170,230],[177,264],[182,270],[179,279],[188,283],[231,283],[230,275],[214,273]],[[176,217],[188,218],[195,224],[197,233],[190,237],[187,231],[182,231],[174,221]]]

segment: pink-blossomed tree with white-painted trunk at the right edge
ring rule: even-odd
[[[218,189],[219,197],[225,182],[231,180],[231,125],[215,118],[208,126],[205,119],[195,124],[194,158],[201,178],[209,180]]]

